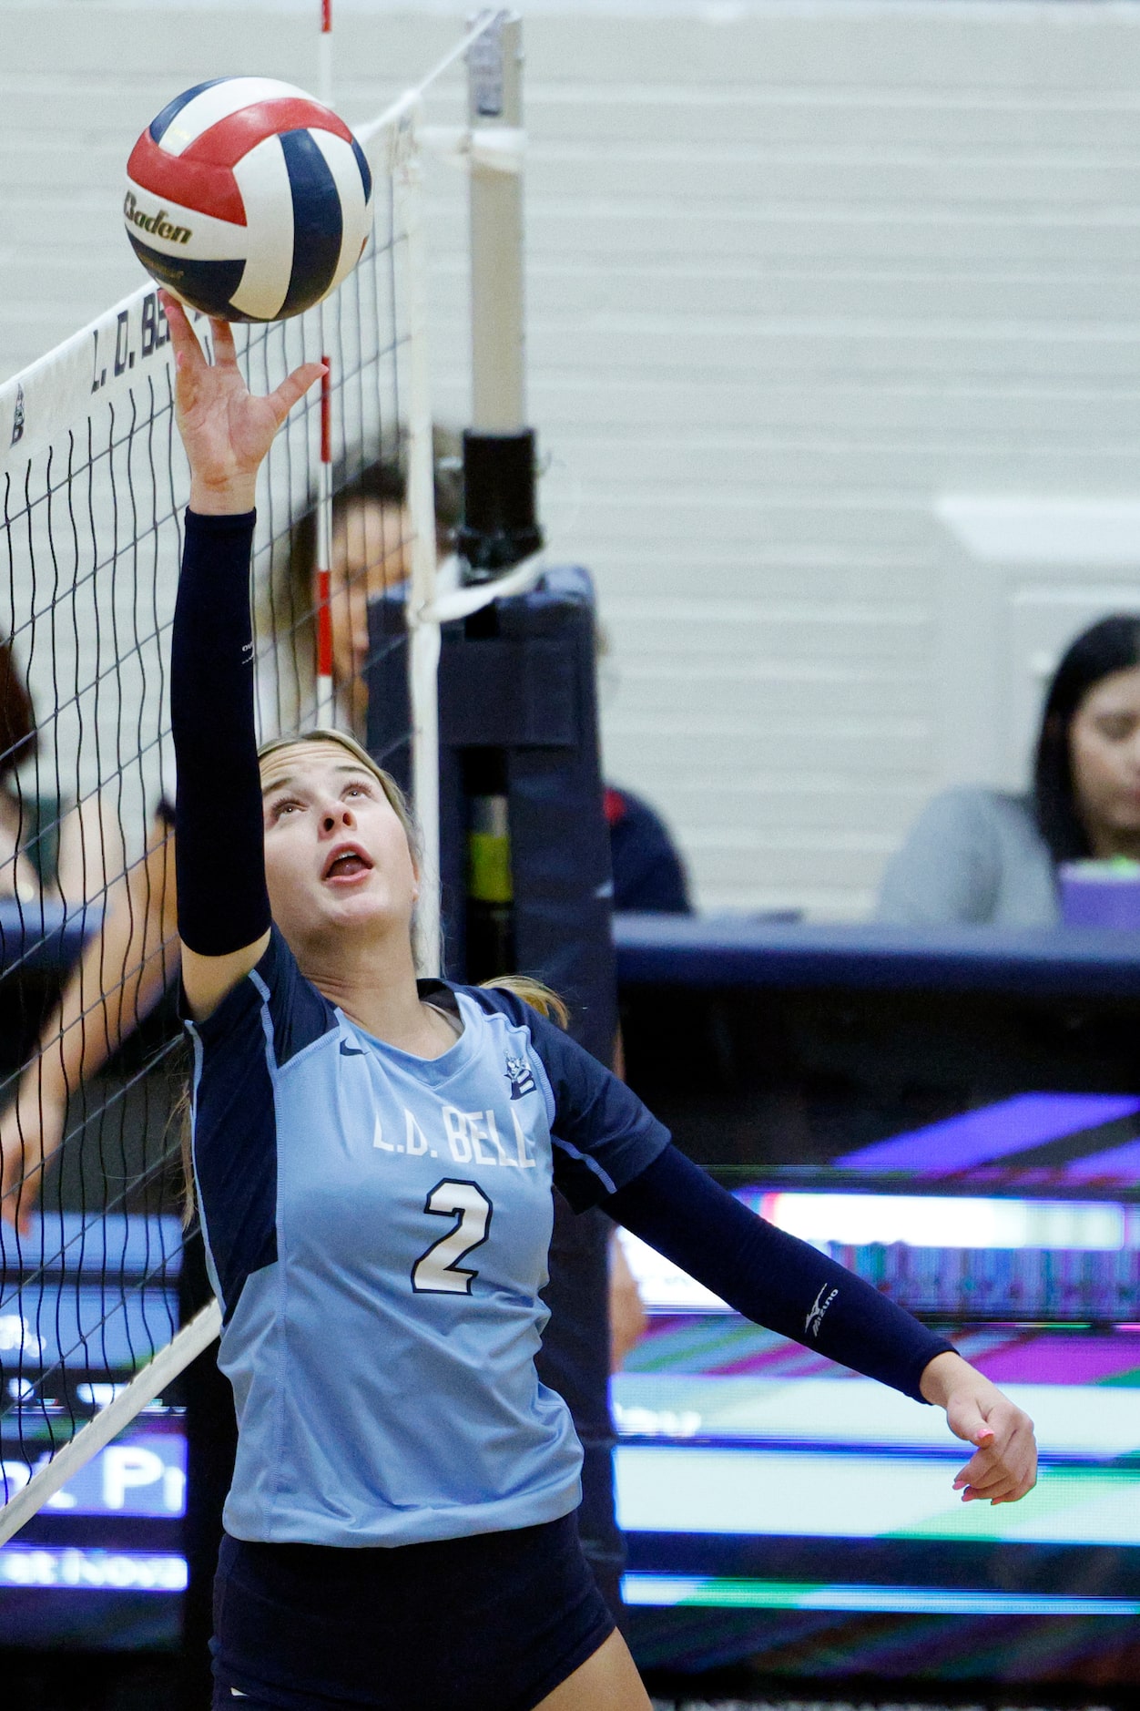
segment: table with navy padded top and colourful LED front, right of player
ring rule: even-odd
[[[631,1085],[752,1210],[945,1331],[1041,1478],[962,1504],[925,1408],[624,1237],[615,1376],[643,1665],[1140,1675],[1140,941],[619,926]]]

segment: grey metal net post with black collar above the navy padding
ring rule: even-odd
[[[472,243],[472,426],[463,435],[467,583],[542,546],[535,435],[526,428],[523,315],[523,21],[489,15],[467,53]]]

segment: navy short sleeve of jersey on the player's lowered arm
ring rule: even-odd
[[[537,1009],[497,987],[460,987],[530,1030],[554,1095],[554,1181],[574,1211],[596,1206],[653,1163],[670,1133],[624,1081]]]

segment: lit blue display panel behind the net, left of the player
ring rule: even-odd
[[[43,1249],[51,1259],[44,1264]],[[178,1324],[176,1218],[77,1213],[19,1242],[0,1225],[0,1480],[5,1497],[106,1405],[137,1350]],[[108,1294],[123,1288],[115,1302]],[[111,1309],[111,1311],[108,1311]],[[50,1374],[43,1394],[36,1379]],[[0,1547],[0,1644],[174,1646],[186,1562],[183,1413],[157,1400]]]

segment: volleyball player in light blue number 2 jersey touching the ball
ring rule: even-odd
[[[419,982],[414,838],[352,739],[253,737],[256,399],[174,303],[191,493],[173,640],[193,1163],[239,1448],[217,1706],[646,1711],[585,1566],[579,1451],[538,1386],[550,1182],[754,1319],[940,1403],[964,1499],[1034,1482],[1032,1427],[942,1338],[762,1223],[513,992]]]

